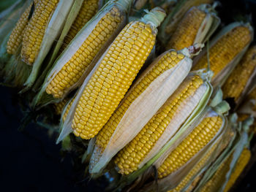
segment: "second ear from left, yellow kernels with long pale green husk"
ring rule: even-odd
[[[55,42],[57,45],[61,45],[60,37],[67,34],[66,31],[78,14],[79,5],[82,4],[82,1],[40,0],[34,7],[29,23],[23,31],[20,55],[22,61],[31,65],[31,73],[24,83],[22,92],[29,90],[39,75],[48,72],[48,66],[52,64],[49,58],[54,58],[53,52],[49,53],[49,51],[53,45],[56,45]],[[59,50],[59,47],[56,48],[55,46],[55,50]],[[48,55],[47,61],[46,55]],[[42,65],[43,61],[45,61],[44,65]],[[44,67],[42,68],[42,66]],[[41,85],[42,83],[39,86]]]

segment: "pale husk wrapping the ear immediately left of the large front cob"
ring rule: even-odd
[[[127,6],[127,0],[119,0],[124,1],[125,5]],[[128,0],[129,5],[130,0]],[[47,88],[48,84],[53,80],[53,78],[58,74],[58,72],[62,69],[64,64],[69,61],[69,58],[72,57],[72,55],[76,52],[76,50],[82,45],[83,39],[86,39],[89,34],[91,34],[91,31],[95,28],[99,20],[102,19],[102,17],[105,16],[107,12],[110,11],[113,7],[116,7],[117,9],[121,10],[122,15],[124,15],[124,20],[119,24],[118,28],[116,28],[115,33],[113,33],[108,39],[108,42],[103,45],[103,47],[99,50],[99,53],[95,56],[94,60],[91,61],[91,64],[89,64],[86,71],[83,73],[83,76],[80,77],[80,80],[76,82],[74,85],[72,85],[69,89],[67,89],[66,93],[64,93],[64,96],[61,99],[64,99],[65,96],[67,96],[70,91],[74,90],[75,88],[78,88],[78,86],[82,85],[83,81],[86,80],[86,77],[90,74],[91,70],[94,69],[94,66],[97,64],[97,61],[99,58],[101,58],[102,53],[105,52],[105,50],[108,48],[110,43],[113,41],[113,39],[117,36],[118,32],[121,31],[122,28],[124,28],[124,25],[127,22],[127,12],[124,7],[122,7],[120,4],[116,4],[116,1],[108,1],[107,4],[105,4],[102,9],[97,12],[97,15],[94,15],[94,18],[91,18],[91,20],[86,23],[85,26],[78,32],[78,34],[75,36],[74,39],[69,43],[69,45],[66,47],[66,49],[61,53],[59,58],[55,61],[53,64],[52,69],[50,69],[50,72],[48,72],[45,82],[42,85],[41,90],[37,94],[36,98],[33,101],[32,107],[35,107],[36,105],[44,106],[49,103],[53,102],[59,102],[61,99],[54,99],[53,96],[48,95],[48,93],[45,92],[45,89]],[[75,47],[75,49],[74,49]]]

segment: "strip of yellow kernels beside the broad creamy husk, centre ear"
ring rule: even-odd
[[[132,104],[135,99],[140,96],[143,91],[146,90],[148,85],[151,84],[160,74],[167,71],[168,69],[173,68],[178,64],[181,59],[184,58],[184,55],[181,53],[177,53],[176,51],[170,51],[166,53],[158,62],[154,65],[154,67],[148,71],[148,73],[138,82],[133,88],[132,91],[127,93],[125,99],[118,106],[118,109],[113,113],[113,115],[108,120],[108,123],[99,131],[97,135],[96,145],[103,150],[108,145],[110,137],[113,135],[113,132],[116,130],[118,123],[121,118],[123,118],[124,113],[129,108],[130,104]],[[108,136],[108,137],[107,137]]]

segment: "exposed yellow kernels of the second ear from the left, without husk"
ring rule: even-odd
[[[59,0],[40,0],[33,12],[28,25],[23,31],[21,58],[26,64],[32,65],[39,53],[45,28]]]

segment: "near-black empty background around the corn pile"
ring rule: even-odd
[[[2,0],[1,0],[2,1]],[[233,15],[251,15],[255,26],[255,1],[222,1],[217,8],[222,22],[227,24]],[[18,131],[23,113],[18,106],[16,91],[0,86],[0,191],[104,191],[103,185],[84,179],[72,154],[60,152],[56,135],[29,124]],[[235,191],[256,191],[256,165],[248,172]]]

